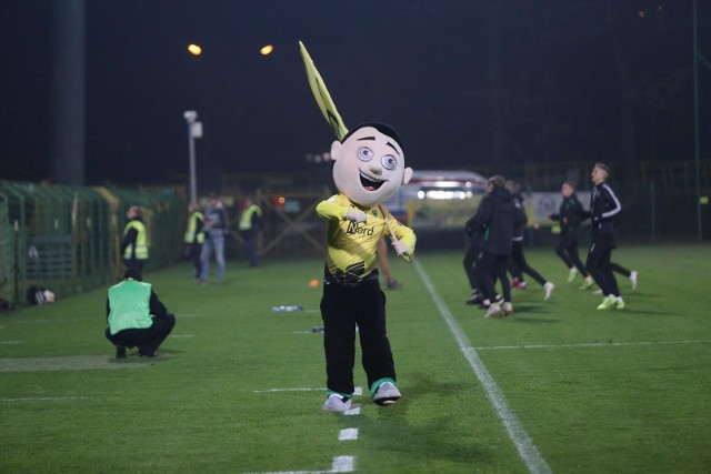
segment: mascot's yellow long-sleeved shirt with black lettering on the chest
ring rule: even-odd
[[[363,211],[367,222],[351,222],[346,219],[349,210]],[[384,211],[384,215],[383,215]],[[385,220],[395,236],[414,252],[414,232],[402,225],[384,208],[362,209],[346,195],[336,194],[321,201],[316,212],[328,221],[328,252],[326,254],[327,276],[344,286],[353,286],[375,270],[375,248],[382,235],[390,235]]]

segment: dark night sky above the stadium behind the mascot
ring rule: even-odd
[[[0,178],[52,173],[48,3],[3,2]],[[709,46],[710,9],[699,3]],[[691,1],[87,0],[87,182],[187,173],[188,109],[204,127],[199,167],[304,167],[332,135],[299,40],[347,125],[391,123],[413,168],[489,162],[497,113],[512,162],[614,160],[630,93],[620,51],[641,158],[692,158]],[[190,42],[203,56],[191,57]],[[268,43],[274,52],[260,56]]]

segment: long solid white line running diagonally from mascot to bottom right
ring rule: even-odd
[[[481,362],[481,359],[479,359],[477,351],[469,342],[469,337],[467,337],[460,325],[454,320],[452,313],[449,311],[444,302],[442,302],[442,299],[430,281],[430,278],[424,272],[424,269],[420,264],[419,260],[413,260],[412,263],[420,274],[422,283],[424,283],[424,286],[429,291],[430,296],[432,296],[432,301],[440,311],[442,319],[444,319],[444,322],[457,340],[459,349],[467,357],[469,365],[479,379],[479,382],[481,382],[484,391],[487,392],[487,395],[489,396],[489,400],[493,404],[497,414],[503,422],[503,426],[509,434],[509,438],[513,442],[517,450],[519,451],[521,460],[523,460],[523,463],[531,473],[551,473],[551,468],[549,467],[545,460],[543,460],[543,456],[541,456],[541,453],[538,451],[538,447],[535,447],[535,444],[533,444],[533,440],[531,440],[531,437],[528,435],[528,433],[523,428],[523,425],[515,416],[515,413],[513,413],[513,410],[511,410],[511,407],[509,406],[505,396],[503,396],[503,392],[501,392],[501,389],[499,389],[497,382],[489,374],[489,371],[487,370],[483,362]]]

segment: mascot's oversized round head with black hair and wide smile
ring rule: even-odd
[[[342,142],[334,141],[331,160],[338,190],[363,208],[387,201],[412,178],[397,133],[387,125],[361,125]]]

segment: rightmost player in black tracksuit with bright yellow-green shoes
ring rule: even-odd
[[[592,221],[591,242],[585,268],[594,279],[602,294],[605,295],[598,310],[609,310],[624,307],[624,301],[620,295],[618,282],[610,268],[612,249],[615,242],[615,220],[622,211],[622,205],[612,188],[605,182],[610,175],[610,168],[603,163],[595,163],[591,178],[594,183],[590,200],[590,211],[588,215]]]

